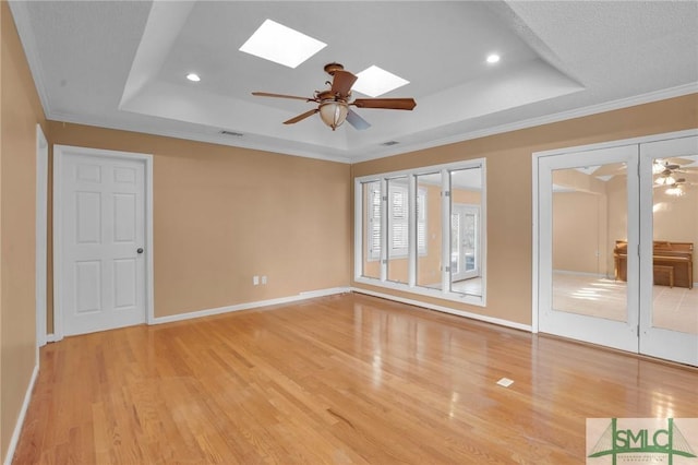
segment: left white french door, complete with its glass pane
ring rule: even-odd
[[[613,238],[638,247],[638,211],[628,207],[638,203],[637,176],[629,176],[637,156],[635,145],[538,158],[541,332],[637,351],[638,257],[627,254],[625,283],[612,267]],[[609,212],[611,202],[625,218]],[[609,225],[614,217],[621,220]]]

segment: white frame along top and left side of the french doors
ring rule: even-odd
[[[551,155],[563,155],[563,154],[568,154],[573,152],[586,152],[586,151],[601,150],[601,148],[613,148],[613,147],[618,147],[623,145],[635,145],[635,144],[639,145],[648,142],[665,141],[670,139],[686,138],[690,135],[698,135],[698,129],[688,129],[684,131],[666,132],[662,134],[653,134],[653,135],[646,135],[646,136],[639,136],[639,138],[623,139],[618,141],[601,142],[597,144],[577,145],[573,147],[562,147],[562,148],[554,148],[554,150],[543,151],[543,152],[533,152],[532,163],[531,163],[531,171],[532,171],[532,192],[531,193],[532,193],[532,214],[533,214],[533,218],[532,218],[532,233],[533,233],[532,239],[533,240],[532,240],[532,254],[531,254],[532,257],[532,260],[531,260],[531,267],[532,267],[531,270],[532,271],[531,332],[532,333],[539,332],[538,310],[540,305],[539,276],[540,276],[540,226],[541,225],[540,225],[540,212],[539,212],[540,199],[538,194],[539,187],[540,187],[539,186],[540,179],[538,175],[539,159],[542,157],[551,156]]]

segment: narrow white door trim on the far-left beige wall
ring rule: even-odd
[[[46,287],[48,249],[48,141],[36,124],[36,357],[46,345]]]

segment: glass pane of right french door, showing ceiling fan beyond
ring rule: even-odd
[[[652,327],[698,334],[698,155],[652,160]]]

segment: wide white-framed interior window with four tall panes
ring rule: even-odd
[[[483,159],[356,182],[357,282],[484,305]]]

